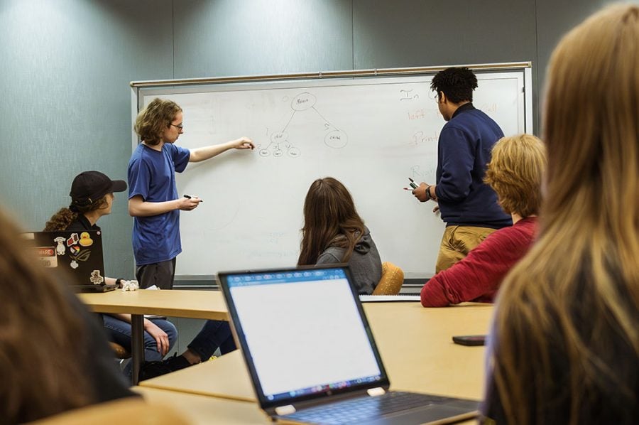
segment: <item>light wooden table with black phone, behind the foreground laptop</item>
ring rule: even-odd
[[[422,308],[420,303],[365,303],[364,311],[391,389],[481,399],[485,348],[457,345],[451,338],[487,333],[493,306],[467,303],[450,308]],[[140,385],[256,401],[239,350]]]

